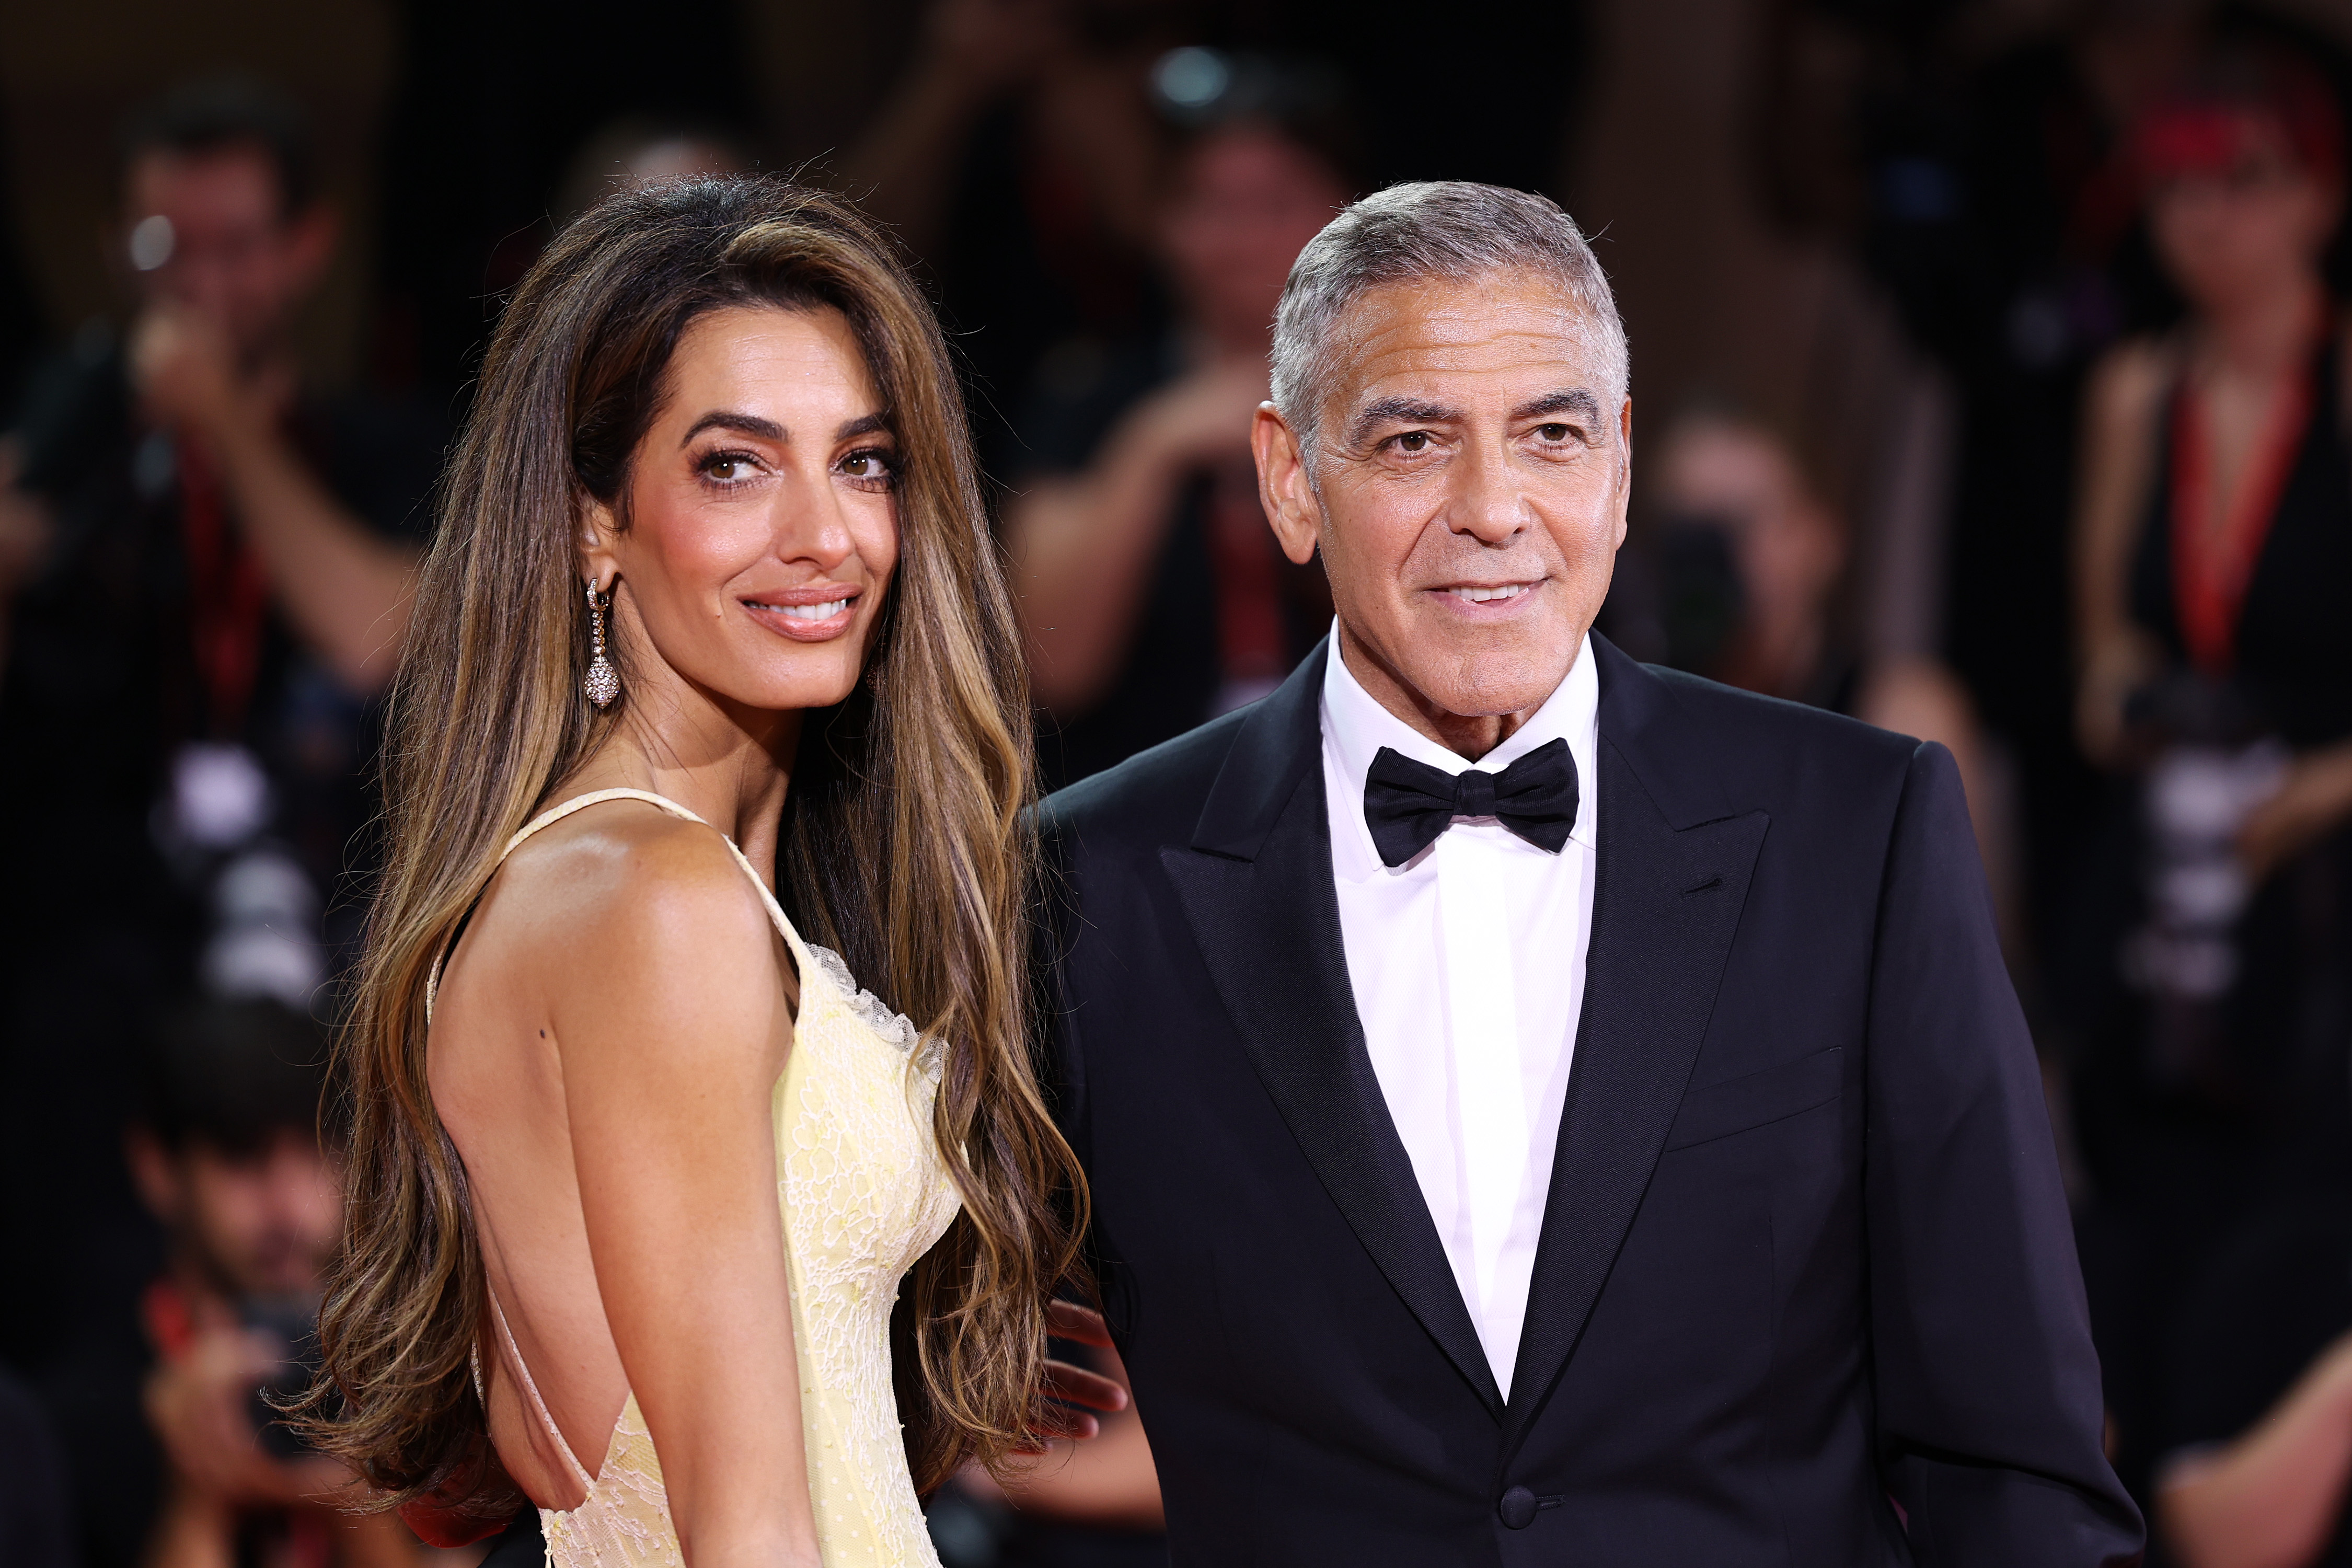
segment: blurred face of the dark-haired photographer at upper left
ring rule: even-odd
[[[287,329],[327,266],[329,219],[287,216],[278,172],[259,148],[143,153],[125,197],[125,249],[136,261],[165,256],[136,273],[141,292],[216,320],[242,355]],[[169,223],[167,244],[139,228],[155,219]]]

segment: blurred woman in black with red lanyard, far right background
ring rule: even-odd
[[[2340,125],[2310,71],[2220,54],[2133,153],[2187,313],[2089,388],[2077,712],[2119,811],[2084,877],[2072,1091],[2138,1483],[2178,1401],[2176,1302],[2251,1213],[2352,1185],[2352,355],[2321,273]]]

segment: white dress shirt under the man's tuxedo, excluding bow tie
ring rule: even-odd
[[[1505,1399],[1585,1001],[1597,717],[1588,637],[1543,708],[1472,764],[1381,708],[1331,632],[1322,752],[1348,980],[1388,1114]],[[1501,773],[1557,738],[1578,785],[1576,827],[1557,856],[1494,818],[1458,816],[1404,865],[1381,865],[1364,776],[1383,745],[1446,773]]]

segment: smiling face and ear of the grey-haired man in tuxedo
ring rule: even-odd
[[[1341,322],[1312,489],[1261,411],[1275,531],[1298,562],[1322,545],[1348,668],[1392,710],[1524,717],[1576,661],[1625,538],[1632,435],[1585,336],[1541,275],[1392,284]]]

